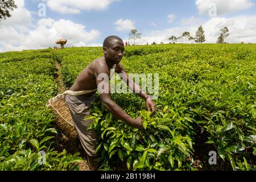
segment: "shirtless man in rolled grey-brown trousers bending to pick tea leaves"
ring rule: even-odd
[[[148,97],[146,92],[144,92],[137,84],[135,84],[135,82],[133,82],[132,79],[129,78],[125,69],[120,64],[123,51],[125,50],[122,39],[117,36],[109,36],[104,40],[103,50],[104,57],[100,57],[90,63],[88,67],[86,67],[80,75],[77,76],[75,83],[69,89],[70,92],[83,92],[86,94],[80,96],[67,95],[65,97],[82,147],[88,155],[88,163],[92,170],[96,170],[98,168],[98,163],[94,161],[94,159],[97,158],[94,152],[98,146],[98,136],[96,131],[87,130],[92,119],[85,120],[84,118],[90,114],[89,109],[92,107],[91,102],[95,100],[94,93],[97,91],[97,88],[100,93],[102,104],[114,115],[114,117],[121,119],[130,126],[143,129],[141,117],[137,119],[131,118],[121,109],[121,107],[111,100],[109,79],[102,80],[102,75],[106,75],[108,77],[110,69],[115,67],[115,72],[123,73],[123,75],[125,75],[123,81],[126,82],[133,92],[139,93],[139,95],[144,98],[147,109],[149,111],[151,110],[151,113],[154,113],[155,111],[154,102]],[[103,85],[103,91],[102,88],[100,88],[100,85]],[[87,90],[87,92],[84,90]]]

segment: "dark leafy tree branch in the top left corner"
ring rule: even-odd
[[[17,7],[14,0],[0,0],[0,20],[6,20],[6,17],[11,17],[10,11],[13,11]]]

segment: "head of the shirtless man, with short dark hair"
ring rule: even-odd
[[[123,40],[118,36],[108,36],[103,43],[105,59],[111,63],[118,64],[123,57],[125,46]]]

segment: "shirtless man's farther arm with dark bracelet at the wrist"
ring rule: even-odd
[[[134,92],[137,93],[140,97],[144,98],[146,101],[146,106],[148,111],[151,111],[151,114],[155,112],[155,104],[154,102],[148,97],[147,93],[142,90],[139,85],[137,85],[133,79],[129,77],[129,75],[125,72],[125,69],[123,68],[122,64],[118,64],[118,70],[117,73],[122,73],[122,79],[123,81],[129,86],[129,88]]]

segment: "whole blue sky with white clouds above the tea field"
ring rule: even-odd
[[[0,52],[54,47],[61,38],[65,47],[96,47],[110,35],[133,44],[134,28],[142,34],[135,44],[169,43],[185,31],[195,36],[200,25],[205,43],[216,43],[225,26],[225,42],[256,43],[256,0],[14,1],[18,9],[0,21]]]

